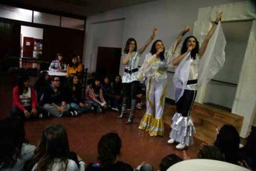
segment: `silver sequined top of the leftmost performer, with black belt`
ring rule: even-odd
[[[122,54],[122,59],[125,58],[128,54]],[[127,70],[133,70],[138,68],[138,63],[139,63],[139,57],[140,57],[139,51],[133,52],[131,54],[131,58],[129,59],[128,63],[125,65],[125,69]],[[122,76],[122,82],[123,83],[130,83],[133,81],[137,81],[137,73],[138,72],[133,72],[133,73],[127,73],[123,72]]]

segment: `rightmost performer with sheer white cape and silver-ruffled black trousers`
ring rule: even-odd
[[[220,27],[221,17],[222,13],[216,17],[201,48],[199,48],[196,37],[189,36],[184,40],[181,55],[172,61],[174,66],[178,66],[173,76],[176,113],[172,118],[172,131],[170,131],[168,143],[172,144],[177,141],[179,144],[176,149],[184,149],[186,146],[193,145],[195,127],[190,118],[190,111],[196,98],[196,92],[199,85],[206,85],[213,78],[225,61],[226,42]],[[207,48],[207,46],[209,47]]]

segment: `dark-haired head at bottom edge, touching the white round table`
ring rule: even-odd
[[[170,166],[180,161],[183,161],[183,159],[178,157],[178,155],[169,154],[161,160],[161,163],[159,165],[160,171],[166,171]]]

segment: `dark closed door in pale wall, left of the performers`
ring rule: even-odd
[[[119,73],[121,48],[98,47],[96,75],[113,78]]]

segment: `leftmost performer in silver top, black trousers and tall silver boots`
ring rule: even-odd
[[[125,49],[122,54],[122,64],[125,65],[125,70],[122,76],[122,83],[123,83],[123,102],[122,102],[122,111],[118,118],[123,118],[124,114],[127,113],[126,105],[127,101],[131,100],[131,110],[130,116],[128,120],[125,122],[127,124],[133,123],[134,118],[134,111],[136,107],[136,93],[137,87],[139,87],[140,82],[137,79],[138,73],[138,63],[140,55],[145,51],[146,47],[157,34],[157,29],[153,28],[152,36],[145,42],[145,45],[142,46],[139,50],[137,50],[137,43],[136,40],[130,38],[126,41]]]

